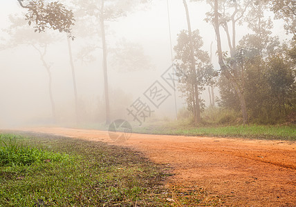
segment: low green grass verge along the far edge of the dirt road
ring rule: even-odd
[[[211,137],[241,137],[250,139],[279,139],[296,141],[296,126],[192,126],[182,121],[159,122],[134,127],[133,132],[157,135],[186,135]]]

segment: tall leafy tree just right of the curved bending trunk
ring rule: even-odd
[[[265,74],[266,60],[279,48],[278,37],[272,37],[272,21],[265,18],[268,6],[263,1],[250,4],[244,20],[251,32],[239,41],[239,65],[244,70],[243,90],[249,115],[252,119],[262,120],[268,116],[270,90]]]

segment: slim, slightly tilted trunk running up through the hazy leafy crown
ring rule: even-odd
[[[194,97],[195,97],[195,115],[194,115],[194,123],[199,124],[201,122],[201,108],[199,103],[199,95],[198,95],[198,84],[197,84],[197,75],[196,75],[196,67],[195,67],[195,58],[194,58],[194,46],[193,46],[193,39],[192,39],[192,30],[191,30],[191,24],[190,24],[190,17],[189,17],[189,10],[187,6],[186,0],[183,0],[183,4],[185,7],[186,12],[186,18],[187,18],[187,26],[188,26],[188,35],[189,35],[189,41],[190,41],[190,56],[191,56],[191,70],[194,75]]]

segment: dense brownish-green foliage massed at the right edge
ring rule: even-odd
[[[272,37],[272,21],[265,18],[268,5],[263,2],[250,4],[244,21],[252,33],[239,41],[236,53],[225,62],[232,69],[237,83],[243,90],[250,121],[260,124],[277,124],[284,121],[290,110],[295,110],[295,72],[293,48],[280,44],[279,37]],[[292,56],[291,56],[292,55]],[[219,80],[220,106],[238,111],[237,92],[227,79]]]

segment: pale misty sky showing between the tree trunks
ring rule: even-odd
[[[22,10],[17,1],[1,0],[0,2],[0,26],[1,30],[8,28],[9,14],[21,14]],[[203,21],[205,12],[210,10],[205,3],[188,2],[192,29],[199,29],[203,37],[203,50],[210,50],[213,41],[213,53],[216,51],[214,30]],[[172,43],[176,45],[178,32],[187,29],[183,1],[169,1],[171,14]],[[140,10],[120,18],[116,22],[107,23],[107,43],[114,46],[120,39],[139,44],[144,55],[149,57],[151,69],[138,71],[120,71],[118,68],[109,67],[109,83],[112,101],[116,97],[127,97],[127,101],[118,103],[120,107],[114,107],[113,115],[126,113],[125,108],[134,100],[142,96],[142,93],[160,78],[160,75],[172,64],[169,45],[169,30],[167,19],[167,1],[154,1],[146,10]],[[33,30],[33,28],[31,28]],[[246,28],[245,28],[246,29]],[[275,23],[273,29],[277,35],[285,39],[284,28]],[[57,34],[57,32],[55,32]],[[238,31],[238,40],[246,34],[246,30]],[[1,32],[1,37],[3,36]],[[42,35],[42,34],[41,34]],[[63,34],[57,34],[63,39]],[[75,39],[73,53],[79,50],[79,39]],[[3,41],[1,41],[3,43]],[[100,45],[100,42],[97,42]],[[51,63],[53,75],[53,95],[57,111],[61,112],[61,119],[71,117],[73,114],[73,85],[71,79],[71,68],[68,63],[68,48],[66,41],[57,41],[50,45],[46,60]],[[18,48],[0,51],[0,124],[17,124],[28,121],[46,120],[50,117],[50,103],[48,98],[48,77],[46,70],[42,67],[37,51],[31,47],[22,45]],[[84,103],[86,110],[96,108],[98,101],[103,101],[103,79],[102,79],[102,52],[95,52],[97,59],[92,63],[84,64],[75,61],[77,73],[78,96]],[[215,55],[213,55],[214,68],[218,69]],[[110,64],[109,59],[109,65]],[[178,97],[178,108],[183,107],[183,100]],[[205,98],[207,93],[205,92]],[[102,108],[104,110],[104,108]],[[123,112],[122,112],[123,111]],[[160,116],[174,117],[174,99],[169,97],[158,109]],[[91,113],[91,112],[90,112]],[[45,117],[45,118],[44,118]],[[102,116],[104,117],[104,116]],[[118,118],[118,117],[117,117]],[[68,119],[68,118],[65,118]]]

